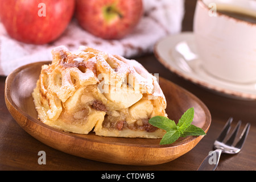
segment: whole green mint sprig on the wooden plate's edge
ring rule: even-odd
[[[166,134],[163,136],[160,144],[171,144],[180,137],[206,135],[200,127],[191,125],[194,112],[193,107],[185,111],[177,125],[175,121],[159,115],[152,117],[148,122],[159,129],[166,130]]]

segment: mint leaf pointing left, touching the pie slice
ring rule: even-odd
[[[172,128],[176,128],[176,123],[172,121],[171,119],[168,119],[167,117],[163,116],[155,116],[150,118],[148,121],[151,125],[158,127],[159,129],[163,129],[166,131],[169,131]]]

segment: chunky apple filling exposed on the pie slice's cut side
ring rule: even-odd
[[[157,129],[148,123],[148,119],[151,117],[154,109],[150,100],[141,98],[141,96],[138,95],[132,96],[130,93],[131,97],[127,97],[127,100],[129,100],[128,103],[128,101],[124,102],[125,100],[118,101],[120,99],[118,94],[113,93],[114,96],[110,96],[110,94],[111,93],[108,93],[108,97],[105,97],[105,94],[102,95],[95,85],[89,85],[82,91],[78,90],[72,98],[63,104],[67,111],[60,114],[59,119],[67,123],[76,122],[77,124],[85,124],[89,119],[87,115],[98,112],[104,115],[104,119],[98,121],[102,123],[103,130],[110,129],[121,131],[130,129],[153,132]],[[112,98],[112,100],[108,98]],[[139,100],[139,98],[141,98],[141,100]],[[136,102],[137,100],[139,101]]]

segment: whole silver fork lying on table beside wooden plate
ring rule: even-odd
[[[243,143],[245,143],[246,137],[249,133],[250,123],[246,124],[245,129],[243,129],[242,131],[240,139],[238,140],[236,145],[234,145],[233,143],[240,128],[241,121],[238,121],[235,129],[233,130],[233,133],[230,135],[229,139],[224,142],[224,139],[229,133],[232,121],[233,118],[228,119],[228,122],[226,122],[220,136],[215,140],[213,144],[215,150],[209,152],[209,155],[203,160],[197,171],[214,171],[218,166],[221,153],[237,154],[241,151]]]

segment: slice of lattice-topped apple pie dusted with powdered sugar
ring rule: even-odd
[[[81,46],[60,46],[43,65],[32,93],[38,118],[72,133],[105,137],[162,138],[148,123],[166,116],[166,99],[156,77],[135,60]]]

